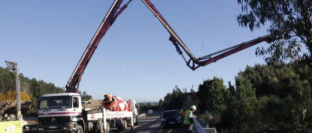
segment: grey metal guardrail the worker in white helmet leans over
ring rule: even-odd
[[[216,128],[208,128],[207,122],[205,123],[203,120],[200,119],[197,120],[194,117],[192,119],[194,122],[192,126],[192,133],[217,133]],[[202,126],[207,128],[203,128]]]

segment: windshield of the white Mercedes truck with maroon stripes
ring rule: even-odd
[[[40,109],[71,108],[71,96],[52,96],[40,99]]]

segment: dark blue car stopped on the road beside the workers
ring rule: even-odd
[[[161,116],[160,118],[162,118],[160,124],[162,129],[169,126],[182,126],[183,124],[180,111],[164,111],[163,116]]]

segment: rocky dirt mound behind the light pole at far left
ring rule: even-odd
[[[21,111],[24,116],[36,116],[37,111],[34,110],[32,101],[22,101]],[[0,101],[0,116],[4,117],[5,114],[16,114],[16,100]]]

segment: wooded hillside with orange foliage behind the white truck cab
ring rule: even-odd
[[[41,95],[65,92],[64,87],[56,87],[53,83],[47,83],[43,80],[37,80],[35,78],[29,79],[22,73],[19,74],[19,78],[21,87],[21,100],[31,101],[31,110],[34,111],[32,113],[37,112],[37,102]],[[92,96],[88,95],[85,91],[79,93],[82,100],[88,101],[89,99],[92,99]],[[0,67],[0,101],[3,100],[16,100],[15,74],[6,68]],[[24,114],[25,112],[22,113]],[[27,116],[27,114],[24,115]]]

